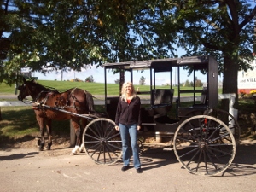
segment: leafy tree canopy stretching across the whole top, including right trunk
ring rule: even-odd
[[[237,92],[255,42],[246,0],[2,0],[0,82],[22,67],[81,70],[103,62],[213,55],[224,93]],[[232,82],[232,84],[230,84]]]

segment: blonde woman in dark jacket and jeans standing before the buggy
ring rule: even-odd
[[[137,145],[137,131],[141,129],[140,118],[141,100],[136,95],[136,91],[131,82],[123,84],[121,96],[115,116],[115,129],[120,131],[122,138],[122,150],[124,166],[122,171],[129,169],[130,165],[130,141],[133,154],[133,166],[137,173],[142,173],[141,162],[139,159],[139,149]],[[129,138],[130,137],[130,138]]]

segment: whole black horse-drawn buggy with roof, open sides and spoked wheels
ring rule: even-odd
[[[182,84],[183,67],[194,76],[189,90]],[[140,135],[167,139],[177,160],[189,172],[215,175],[230,166],[236,154],[240,127],[230,113],[218,109],[218,62],[212,56],[106,63],[105,107],[109,118],[90,121],[83,135],[85,151],[92,160],[98,164],[113,164],[121,157],[121,139],[113,122],[119,90],[116,96],[108,96],[112,89],[108,84],[109,70],[122,71],[125,78],[126,73],[130,73],[130,79],[125,81],[131,82],[138,71],[148,70],[150,73],[150,90],[137,87],[137,95],[143,104]],[[169,86],[156,85],[159,73],[168,73]],[[200,89],[195,86],[196,73],[206,77],[206,84]],[[175,84],[172,82],[174,78]],[[176,96],[173,84],[177,86]]]

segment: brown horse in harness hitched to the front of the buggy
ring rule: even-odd
[[[34,102],[33,110],[36,113],[41,132],[41,139],[38,140],[39,150],[44,149],[44,125],[49,138],[46,148],[49,150],[52,145],[51,121],[71,119],[77,137],[76,146],[73,148],[72,154],[76,154],[82,141],[81,126],[83,128],[85,127],[87,119],[81,118],[75,114],[94,113],[93,96],[88,91],[78,88],[73,88],[60,93],[58,90],[50,90],[49,88],[36,83],[34,80],[26,81],[26,79],[23,79],[23,83],[23,85],[18,87],[18,90],[20,90],[18,99],[23,101],[26,96],[32,96]],[[62,111],[65,110],[67,113],[52,110],[51,108],[44,108],[44,106],[61,108]],[[83,147],[84,146],[82,146],[80,150],[82,150]]]

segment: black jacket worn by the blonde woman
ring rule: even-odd
[[[128,104],[124,99],[119,98],[118,107],[115,115],[115,124],[119,125],[141,125],[141,99],[136,96]]]

